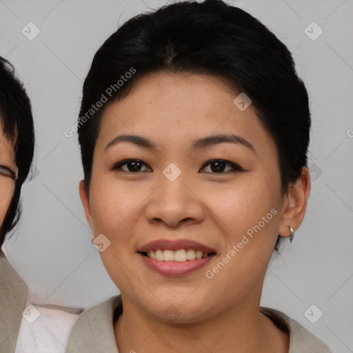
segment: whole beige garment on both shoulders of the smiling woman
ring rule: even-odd
[[[268,307],[260,310],[281,330],[290,333],[288,353],[331,353],[323,342],[282,312]],[[119,295],[83,312],[71,330],[65,353],[119,353],[113,323],[122,311]]]

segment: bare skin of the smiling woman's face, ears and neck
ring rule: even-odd
[[[251,105],[234,105],[238,94],[219,77],[154,72],[105,109],[89,196],[83,181],[79,190],[94,236],[111,242],[101,259],[122,294],[123,314],[114,323],[120,353],[288,352],[288,334],[259,313],[259,303],[278,234],[290,236],[288,226],[296,230],[303,221],[310,177],[303,168],[283,195],[276,145]],[[121,134],[156,148],[126,141],[107,148]],[[223,142],[191,149],[214,134],[235,134],[252,148]],[[141,165],[119,165],[123,159]],[[213,159],[230,163],[217,172]],[[181,170],[174,181],[163,174],[170,163]],[[272,209],[276,215],[208,279],[206,270]],[[165,276],[137,252],[157,239],[199,241],[216,256],[188,275]],[[165,310],[177,315],[168,319]]]

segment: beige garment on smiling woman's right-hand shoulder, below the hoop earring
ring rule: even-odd
[[[283,312],[270,307],[261,307],[260,312],[268,316],[281,330],[290,334],[288,353],[332,353],[325,343]]]

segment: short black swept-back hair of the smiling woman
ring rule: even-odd
[[[132,77],[118,87],[117,80],[131,68]],[[245,92],[276,143],[283,192],[301,175],[307,165],[310,110],[288,48],[240,8],[221,0],[181,1],[133,17],[94,55],[78,121],[87,192],[94,145],[108,104],[97,110],[91,110],[92,105],[102,94],[108,103],[125,97],[139,77],[158,71],[212,74]]]

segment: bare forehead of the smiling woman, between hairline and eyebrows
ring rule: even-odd
[[[234,132],[244,138],[270,139],[252,105],[239,109],[239,92],[220,77],[154,72],[138,79],[129,94],[110,103],[102,117],[97,144],[119,132],[173,143],[213,133]]]

